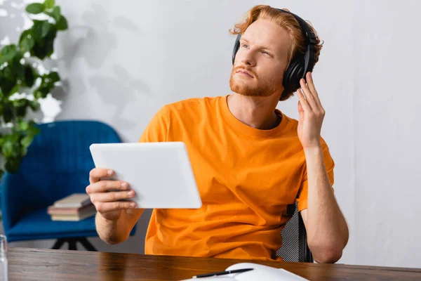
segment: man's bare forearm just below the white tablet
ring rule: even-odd
[[[116,221],[109,221],[102,217],[100,213],[97,213],[95,216],[95,226],[98,235],[107,244],[118,244],[126,241],[136,221],[142,215],[142,212],[142,209],[123,210],[121,216]]]

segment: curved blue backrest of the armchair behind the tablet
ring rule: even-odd
[[[86,192],[89,171],[95,167],[92,143],[120,143],[110,126],[95,121],[59,121],[37,125],[41,132],[29,145],[18,174],[20,198],[27,211],[53,204],[74,192]],[[25,212],[25,209],[22,210]]]

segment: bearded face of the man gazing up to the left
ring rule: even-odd
[[[290,38],[269,20],[256,20],[240,39],[229,86],[243,96],[272,96],[283,91]]]

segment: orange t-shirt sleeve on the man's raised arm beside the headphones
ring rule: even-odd
[[[324,164],[326,166],[326,171],[328,173],[328,178],[330,181],[330,185],[333,187],[334,177],[333,177],[333,168],[335,168],[335,162],[333,161],[332,157],[330,156],[328,145],[325,141],[321,141],[321,148],[323,150],[323,159]],[[307,180],[307,165],[305,164],[305,173],[302,178],[300,190],[298,191],[297,203],[298,203],[298,211],[302,211],[307,209],[307,193],[308,193],[308,180]],[[333,188],[332,188],[333,190]]]

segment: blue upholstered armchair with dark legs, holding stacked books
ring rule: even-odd
[[[76,242],[95,251],[86,237],[98,234],[95,218],[82,221],[51,221],[47,207],[75,192],[86,192],[89,171],[95,166],[89,151],[92,143],[120,143],[107,124],[95,121],[59,121],[39,124],[41,132],[28,148],[18,173],[4,174],[1,211],[9,242],[57,239],[53,249]],[[135,233],[133,228],[131,235]]]

